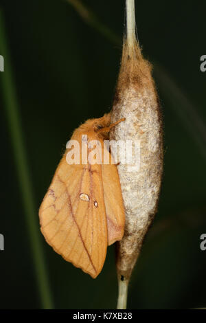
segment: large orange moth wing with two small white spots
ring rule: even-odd
[[[47,243],[65,260],[97,277],[108,241],[101,166],[69,165],[65,154],[39,216]]]

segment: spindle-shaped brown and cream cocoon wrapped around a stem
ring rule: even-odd
[[[117,243],[117,275],[129,280],[139,256],[144,236],[157,212],[163,169],[163,136],[159,100],[135,36],[125,40],[122,63],[113,102],[111,122],[126,118],[111,131],[111,140],[139,140],[140,168],[129,171],[119,164],[126,224]],[[121,157],[121,151],[119,151]]]

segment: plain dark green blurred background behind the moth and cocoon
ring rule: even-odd
[[[123,0],[83,2],[122,37]],[[38,207],[73,129],[111,109],[122,48],[84,23],[63,0],[7,0],[0,8],[38,219]],[[206,54],[205,10],[205,1],[136,0],[139,41],[144,56],[155,63],[165,161],[159,212],[130,282],[130,309],[206,307],[206,251],[199,247],[200,236],[206,233],[206,133],[195,122],[196,115],[204,122],[206,114],[206,72],[200,71],[200,56]],[[159,68],[174,81],[174,89]],[[179,91],[194,110],[187,109]],[[0,252],[0,307],[36,309],[43,305],[2,88],[0,96],[0,233],[5,236],[5,251]],[[113,247],[108,248],[102,273],[93,280],[65,262],[39,235],[56,309],[115,308]]]

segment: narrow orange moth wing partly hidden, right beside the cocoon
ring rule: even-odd
[[[115,164],[102,164],[104,203],[108,230],[108,245],[122,240],[124,235],[125,212],[119,174]]]

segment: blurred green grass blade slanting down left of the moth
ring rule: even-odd
[[[14,151],[14,161],[16,164],[17,176],[25,210],[27,222],[27,234],[30,236],[32,248],[32,258],[34,260],[34,270],[36,274],[38,291],[40,293],[41,304],[44,309],[52,309],[52,294],[49,289],[48,274],[45,267],[43,247],[38,225],[38,209],[34,203],[32,192],[32,182],[27,165],[27,155],[23,143],[23,131],[19,116],[19,107],[16,98],[12,68],[10,64],[10,53],[5,36],[5,24],[3,12],[0,8],[0,51],[4,58],[4,71],[1,72],[1,87],[5,115],[8,120],[8,128]]]

